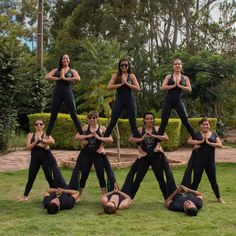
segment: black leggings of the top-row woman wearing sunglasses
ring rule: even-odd
[[[134,137],[139,137],[139,132],[136,125],[136,104],[134,99],[130,98],[126,101],[121,101],[121,99],[117,99],[113,106],[112,106],[112,113],[111,113],[111,121],[108,125],[104,137],[108,137],[111,135],[113,128],[115,127],[119,116],[122,112],[122,110],[125,109],[127,112],[127,116],[129,118],[129,124],[132,130],[132,134]]]

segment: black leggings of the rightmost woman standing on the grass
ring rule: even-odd
[[[194,162],[194,175],[193,175],[193,183],[192,189],[197,190],[198,185],[201,182],[203,171],[206,171],[207,177],[210,181],[211,188],[216,196],[216,198],[220,197],[219,186],[216,181],[216,166],[215,162],[212,160],[208,163],[202,163],[200,160],[196,159]]]

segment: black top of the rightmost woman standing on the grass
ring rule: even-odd
[[[216,139],[218,138],[217,133],[212,132],[211,137],[208,139],[211,143],[216,143]],[[202,140],[201,132],[195,133],[196,140]],[[215,160],[215,147],[208,145],[206,142],[201,144],[201,147],[196,152],[197,158],[207,161],[214,161]]]

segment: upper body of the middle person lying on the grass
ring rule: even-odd
[[[113,190],[104,194],[101,198],[101,202],[106,214],[115,214],[117,209],[128,208],[131,204],[131,198],[120,190]]]

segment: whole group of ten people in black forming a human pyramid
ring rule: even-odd
[[[159,183],[166,206],[170,210],[181,209],[181,211],[185,211],[185,202],[187,200],[191,202],[191,200],[183,197],[186,196],[186,192],[190,195],[194,194],[194,196],[191,196],[191,199],[197,197],[196,202],[200,201],[199,199],[201,198],[201,194],[196,190],[201,181],[204,169],[217,201],[223,203],[224,201],[220,196],[219,187],[216,181],[215,169],[215,148],[221,148],[222,143],[217,134],[210,130],[210,122],[207,118],[202,118],[199,122],[199,132],[195,132],[188,121],[182,96],[185,91],[191,92],[191,83],[189,78],[182,74],[182,69],[182,61],[180,59],[175,59],[173,62],[173,73],[165,77],[161,86],[161,89],[166,91],[166,96],[163,102],[160,127],[155,126],[155,117],[153,113],[147,112],[143,117],[143,127],[137,128],[134,91],[140,91],[140,86],[137,78],[132,73],[130,62],[127,59],[121,59],[119,61],[117,73],[112,75],[108,84],[108,89],[115,89],[117,92],[112,107],[111,121],[107,129],[98,124],[98,113],[95,111],[88,113],[87,124],[81,127],[81,123],[76,115],[76,107],[72,92],[72,82],[79,82],[80,76],[76,70],[71,68],[69,56],[67,54],[62,55],[58,67],[49,72],[45,77],[46,80],[56,81],[51,117],[46,134],[43,131],[44,121],[38,119],[35,121],[35,132],[28,135],[27,149],[31,150],[31,162],[28,182],[22,200],[28,200],[28,194],[33,186],[37,172],[42,165],[45,177],[51,189],[47,192],[46,197],[48,194],[50,195],[50,193],[54,193],[56,194],[56,197],[54,198],[57,198],[57,196],[60,198],[61,194],[65,193],[69,194],[68,197],[74,196],[73,202],[75,203],[81,197],[90,169],[94,164],[103,195],[101,201],[104,206],[104,212],[108,214],[115,213],[117,209],[123,209],[130,206],[131,200],[135,197],[150,166],[152,167],[156,180]],[[61,188],[61,185],[57,184],[57,176],[61,176],[60,170],[57,167],[55,158],[48,147],[49,144],[54,143],[51,132],[60,106],[63,102],[68,108],[77,129],[75,139],[79,140],[83,145],[77,159],[76,168],[72,174],[72,182],[77,182],[76,185],[73,185],[73,189],[70,190],[68,190],[70,184],[68,186],[65,184],[62,185],[66,186],[65,188]],[[179,188],[176,187],[174,176],[160,144],[162,141],[168,141],[165,128],[168,124],[172,109],[176,110],[182,123],[191,135],[188,143],[194,147],[184,173],[182,185]],[[111,133],[123,110],[127,113],[132,130],[132,135],[129,138],[129,141],[137,143],[140,156],[131,166],[125,182],[121,190],[119,190],[114,172],[111,169],[104,151],[104,143],[113,141]],[[107,174],[107,181],[104,175],[105,172]],[[191,179],[192,172],[194,173],[193,181]],[[77,189],[76,186],[78,187]],[[77,193],[78,189],[79,195]],[[185,194],[182,196],[182,193]],[[177,196],[177,200],[179,201],[179,199],[182,199],[181,202],[183,203],[181,203],[182,205],[179,208],[173,207],[174,200]],[[49,205],[50,202],[48,202],[45,207],[48,207],[49,209]],[[51,205],[53,205],[53,202]],[[186,203],[185,205],[188,204]],[[50,214],[56,213],[60,208],[58,205],[56,206],[54,204],[52,208],[57,210],[49,210],[48,212],[50,212]],[[189,208],[191,208],[191,204],[189,204],[189,206]],[[194,206],[197,208],[196,204]],[[198,209],[200,209],[200,207],[198,207]],[[187,213],[187,211],[185,212]],[[196,210],[194,212],[196,212]]]

